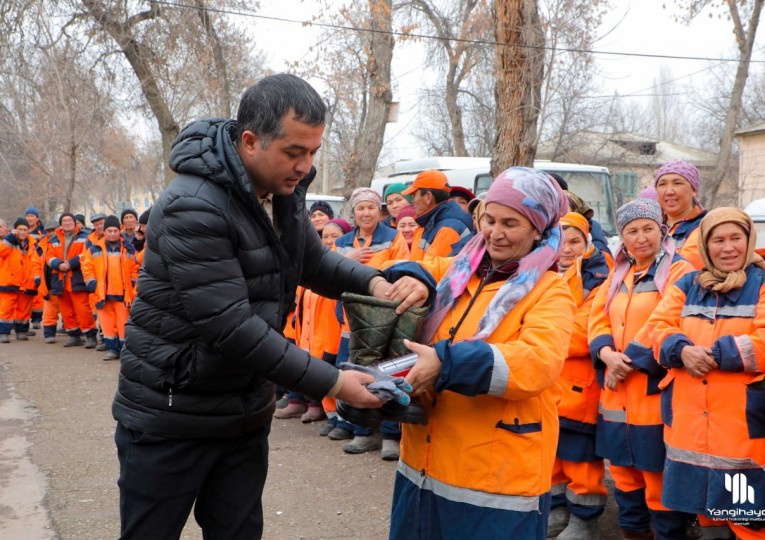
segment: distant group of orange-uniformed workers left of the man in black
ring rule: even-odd
[[[41,327],[45,343],[56,343],[61,324],[64,347],[119,358],[148,211],[139,220],[126,209],[121,218],[94,214],[87,228],[83,216],[64,212],[43,222],[30,207],[0,231],[0,343],[9,343],[12,331],[27,341]]]

